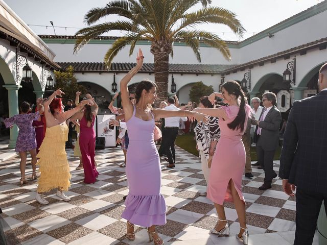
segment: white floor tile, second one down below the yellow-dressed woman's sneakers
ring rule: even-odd
[[[46,233],[48,231],[52,231],[59,227],[65,226],[69,223],[71,222],[67,219],[59,217],[57,215],[50,215],[41,219],[37,219],[29,223],[29,225],[35,229],[38,229],[39,231]]]

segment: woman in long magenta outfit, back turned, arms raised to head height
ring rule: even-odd
[[[96,132],[93,127],[99,107],[90,94],[86,94],[86,97],[91,100],[94,105],[92,107],[85,105],[84,110],[76,113],[71,120],[80,120],[79,144],[82,153],[84,183],[93,184],[96,182],[96,178],[98,178],[99,175],[95,163]]]

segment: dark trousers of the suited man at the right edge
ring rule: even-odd
[[[311,245],[322,200],[327,214],[327,193],[296,189],[296,230],[294,245]]]

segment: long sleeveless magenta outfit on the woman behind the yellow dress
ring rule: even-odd
[[[96,132],[94,131],[95,116],[92,116],[92,123],[90,127],[87,127],[87,120],[85,115],[80,120],[80,138],[79,144],[83,159],[84,168],[84,183],[93,184],[96,182],[96,178],[99,173],[95,164],[96,155]]]

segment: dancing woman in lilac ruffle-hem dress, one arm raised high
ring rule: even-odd
[[[136,66],[121,80],[121,96],[128,128],[126,176],[129,193],[122,217],[127,219],[127,238],[135,239],[134,225],[148,227],[149,240],[164,243],[155,232],[156,225],[166,224],[166,203],[160,193],[161,168],[159,154],[153,141],[155,119],[172,116],[190,116],[206,122],[205,115],[192,111],[152,109],[157,99],[156,85],[151,81],[140,82],[135,91],[135,105],[129,100],[128,82],[143,65],[139,50]]]

